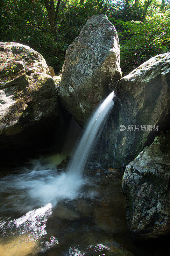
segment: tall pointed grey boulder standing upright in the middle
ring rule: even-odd
[[[119,40],[106,15],[92,16],[68,47],[62,68],[59,99],[83,124],[122,77]]]

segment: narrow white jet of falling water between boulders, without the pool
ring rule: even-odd
[[[102,128],[113,108],[114,97],[115,93],[111,92],[89,119],[86,129],[75,148],[73,158],[67,165],[67,182],[64,186],[67,186],[70,182],[73,182],[74,186],[82,178],[90,152],[93,150],[97,138],[101,135]]]

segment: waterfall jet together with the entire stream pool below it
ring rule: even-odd
[[[107,153],[106,139],[117,121],[115,100],[111,92],[93,113],[66,172],[56,168],[65,159],[57,154],[31,160],[27,168],[17,168],[12,173],[9,170],[5,177],[1,174],[0,255],[147,254],[135,247],[133,240],[127,240],[121,180],[113,176],[106,181],[104,172],[101,176],[89,172],[90,175],[83,177],[88,164],[93,169],[90,160],[96,155],[98,159],[100,154],[103,160],[103,154]],[[116,147],[117,140],[114,166]],[[96,163],[92,165],[96,167]],[[133,253],[127,247],[133,248]],[[153,247],[151,256],[164,255],[162,248],[158,254],[152,251]]]

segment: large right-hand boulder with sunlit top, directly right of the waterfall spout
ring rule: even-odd
[[[115,103],[109,153],[116,160],[115,167],[122,168],[161,130],[169,128],[170,53],[157,55],[124,76],[115,93],[119,100]],[[121,124],[125,130],[120,131]]]

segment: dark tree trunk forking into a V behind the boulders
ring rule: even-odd
[[[59,6],[61,0],[58,0],[57,6],[55,7],[53,0],[44,0],[46,5],[46,10],[48,13],[50,26],[51,26],[51,32],[56,37],[57,36],[57,16],[59,11]]]

